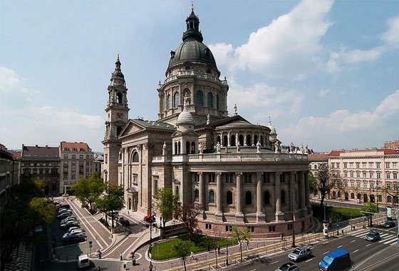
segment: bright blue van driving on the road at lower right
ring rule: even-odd
[[[318,268],[321,271],[345,270],[348,267],[351,267],[351,256],[348,251],[342,248],[329,252],[318,263]]]

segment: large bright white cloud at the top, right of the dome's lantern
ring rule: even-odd
[[[288,14],[249,35],[246,44],[233,49],[232,44],[210,45],[218,63],[231,71],[249,69],[269,77],[297,80],[322,66],[321,38],[331,26],[325,16],[331,0],[304,0]]]

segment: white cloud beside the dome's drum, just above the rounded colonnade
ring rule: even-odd
[[[271,115],[278,118],[294,114],[301,108],[304,95],[300,91],[276,88],[265,83],[256,83],[249,87],[241,86],[234,77],[229,78],[229,108],[237,103],[239,115],[249,121],[267,123]],[[232,110],[229,111],[233,113]]]

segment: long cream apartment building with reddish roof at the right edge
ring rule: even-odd
[[[358,203],[399,203],[399,150],[334,150],[328,165],[342,178],[330,198]]]

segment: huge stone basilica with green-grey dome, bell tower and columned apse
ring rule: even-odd
[[[123,185],[126,208],[143,217],[157,189],[172,189],[182,205],[202,206],[203,234],[225,236],[233,225],[248,227],[254,238],[309,230],[307,155],[281,151],[270,117],[261,126],[236,106],[229,115],[229,85],[202,43],[193,9],[185,23],[157,88],[156,121],[128,118],[118,56],[105,108],[104,180]]]

